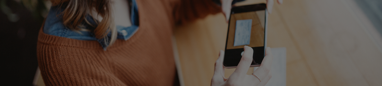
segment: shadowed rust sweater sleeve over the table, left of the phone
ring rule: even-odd
[[[173,15],[176,24],[183,24],[220,12],[221,7],[212,0],[179,0],[174,6]]]

